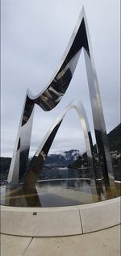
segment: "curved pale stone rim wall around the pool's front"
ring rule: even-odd
[[[57,208],[1,207],[1,233],[60,237],[90,233],[120,224],[120,197],[94,204]]]

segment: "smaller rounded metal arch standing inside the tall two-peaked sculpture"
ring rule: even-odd
[[[48,151],[52,145],[52,142],[56,136],[56,132],[60,128],[60,124],[65,118],[66,113],[71,109],[74,108],[77,111],[81,128],[85,137],[86,141],[86,153],[87,153],[87,160],[89,164],[90,170],[90,178],[94,180],[94,164],[93,164],[93,152],[92,152],[92,137],[90,134],[90,127],[86,116],[86,111],[81,104],[80,101],[73,100],[65,110],[60,113],[57,117],[52,127],[48,130],[47,134],[44,136],[44,140],[40,143],[39,148],[35,152],[35,156],[32,158],[30,166],[28,166],[26,178],[25,178],[25,185],[27,187],[34,186],[37,182],[37,179],[40,176],[40,170],[42,170],[44,165],[44,160],[48,155]]]

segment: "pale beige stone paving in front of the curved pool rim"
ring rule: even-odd
[[[120,256],[120,225],[72,237],[2,235],[1,256]]]

